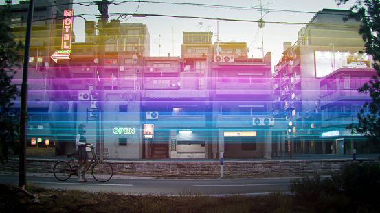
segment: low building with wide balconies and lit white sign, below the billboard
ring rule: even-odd
[[[346,129],[351,123],[357,124],[357,114],[364,103],[372,101],[370,96],[359,93],[357,88],[368,82],[374,69],[369,68],[340,68],[320,80],[320,128],[313,129],[317,152],[324,154],[352,155],[357,153],[379,153],[379,147],[370,145],[367,138],[361,134],[351,134]],[[364,114],[368,114],[368,107]]]

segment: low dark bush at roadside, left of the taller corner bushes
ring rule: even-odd
[[[294,179],[290,182],[289,190],[305,200],[317,199],[323,192],[337,192],[338,188],[330,178],[321,179],[319,174],[313,176],[313,179],[309,179],[308,175]]]

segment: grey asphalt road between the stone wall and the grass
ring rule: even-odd
[[[90,175],[88,175],[90,176]],[[90,192],[120,192],[128,195],[267,195],[269,192],[288,192],[293,178],[269,179],[111,179],[99,183],[95,179],[79,183],[76,177],[58,181],[54,177],[27,177],[37,186],[87,190]],[[0,183],[19,184],[18,175],[0,175]]]

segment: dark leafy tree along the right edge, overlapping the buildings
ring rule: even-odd
[[[335,0],[338,5],[347,3],[349,0]],[[361,21],[359,34],[364,41],[364,51],[371,55],[374,63],[373,68],[377,75],[373,75],[369,82],[358,88],[361,93],[369,94],[372,102],[366,102],[364,108],[369,107],[369,112],[364,108],[357,114],[358,125],[350,124],[347,129],[351,133],[361,133],[367,136],[375,145],[380,143],[380,0],[357,0],[353,5],[349,16],[344,18]]]

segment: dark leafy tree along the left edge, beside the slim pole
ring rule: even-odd
[[[0,161],[8,158],[8,148],[16,148],[19,143],[15,142],[19,131],[19,122],[16,116],[9,116],[14,113],[10,107],[12,101],[19,96],[16,84],[12,84],[12,79],[16,71],[14,67],[20,67],[23,49],[21,42],[14,40],[12,29],[10,28],[11,16],[5,10],[0,10]]]

